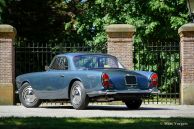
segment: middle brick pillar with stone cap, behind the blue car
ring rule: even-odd
[[[133,34],[135,27],[127,24],[113,24],[106,27],[108,54],[116,56],[128,69],[133,69]]]

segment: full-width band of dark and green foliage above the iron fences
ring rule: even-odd
[[[5,2],[3,0],[1,3]],[[3,22],[18,36],[35,41],[84,42],[102,51],[105,26],[122,23],[137,27],[135,43],[178,39],[187,22],[185,0],[8,0]],[[105,47],[103,47],[105,49]]]

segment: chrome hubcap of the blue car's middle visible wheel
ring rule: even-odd
[[[81,89],[80,89],[80,87],[75,86],[71,91],[71,95],[72,95],[72,103],[75,105],[78,105],[81,101]]]

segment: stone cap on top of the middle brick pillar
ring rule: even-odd
[[[112,24],[105,27],[106,32],[135,32],[136,28],[129,24]]]

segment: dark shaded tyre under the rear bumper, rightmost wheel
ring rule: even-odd
[[[134,109],[139,109],[141,104],[142,104],[142,100],[140,98],[138,99],[130,99],[127,101],[124,101],[126,106],[128,107],[128,109],[134,110]]]

